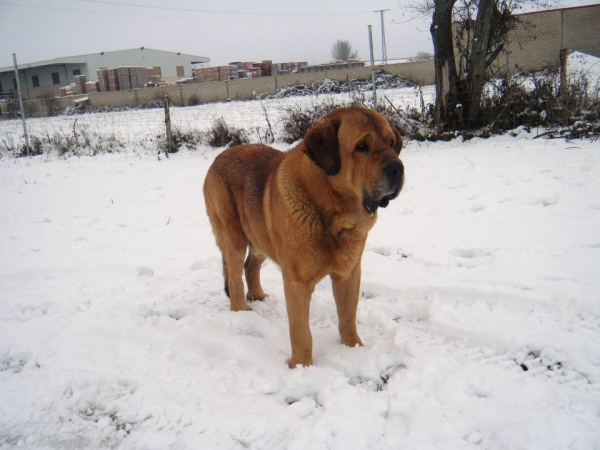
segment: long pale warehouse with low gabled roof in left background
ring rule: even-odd
[[[206,63],[210,63],[210,58],[205,56],[141,47],[20,63],[18,69],[23,97],[34,100],[48,90],[58,95],[59,88],[72,83],[77,75],[85,75],[88,81],[95,81],[98,79],[98,69],[120,66],[153,67],[155,75],[160,75],[164,81],[176,81],[193,76],[192,65]],[[0,68],[0,94],[10,94],[16,92],[16,89],[14,67]]]

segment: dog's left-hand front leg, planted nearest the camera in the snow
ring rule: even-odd
[[[314,285],[283,274],[285,304],[290,323],[292,357],[290,368],[312,364],[312,335],[310,333],[310,298]]]

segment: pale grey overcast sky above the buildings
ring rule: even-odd
[[[0,0],[0,67],[147,47],[230,61],[328,62],[333,43],[350,41],[381,57],[385,13],[388,60],[433,52],[429,21],[410,20],[404,0]],[[598,0],[567,0],[564,5]],[[167,6],[168,5],[168,6]]]

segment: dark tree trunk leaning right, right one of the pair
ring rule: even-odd
[[[481,93],[485,85],[485,72],[488,67],[487,54],[492,29],[492,17],[496,10],[496,0],[480,0],[477,9],[477,20],[473,33],[473,47],[469,55],[469,73],[465,83],[465,100],[463,105],[468,118],[467,126],[476,125],[481,104]],[[490,61],[491,63],[491,61]]]

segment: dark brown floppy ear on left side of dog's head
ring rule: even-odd
[[[339,120],[321,120],[304,137],[304,153],[327,175],[337,175],[341,168],[337,139],[339,127]]]

